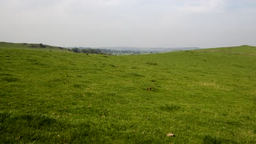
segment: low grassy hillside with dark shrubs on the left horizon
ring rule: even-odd
[[[0,48],[14,48],[14,49],[34,49],[34,50],[50,50],[50,51],[68,51],[63,47],[44,45],[44,44],[27,44],[27,43],[7,43],[0,41]]]

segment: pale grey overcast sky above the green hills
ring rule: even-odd
[[[0,41],[54,46],[256,46],[256,0],[0,0]]]

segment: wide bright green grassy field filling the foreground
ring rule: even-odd
[[[256,143],[256,47],[0,47],[0,143]]]

